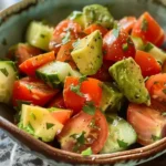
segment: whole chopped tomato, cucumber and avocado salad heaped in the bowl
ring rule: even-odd
[[[149,145],[166,136],[164,41],[151,13],[115,20],[101,4],[56,25],[33,20],[0,61],[0,102],[19,128],[68,152]]]

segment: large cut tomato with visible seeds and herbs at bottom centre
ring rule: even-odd
[[[93,120],[95,120],[95,128],[91,127]],[[72,117],[58,137],[61,143],[61,148],[73,152],[76,143],[71,135],[81,134],[82,132],[85,132],[85,144],[81,145],[76,153],[81,153],[87,147],[91,147],[93,154],[97,154],[103,148],[108,136],[107,122],[101,111],[95,111],[94,115],[80,112]]]

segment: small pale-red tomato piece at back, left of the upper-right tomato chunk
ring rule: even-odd
[[[125,17],[120,20],[118,25],[125,30],[125,32],[129,33],[136,23],[135,17]]]

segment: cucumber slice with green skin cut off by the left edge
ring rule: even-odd
[[[18,72],[14,62],[0,61],[0,102],[10,102],[17,77]]]

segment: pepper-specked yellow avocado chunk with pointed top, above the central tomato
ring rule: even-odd
[[[98,30],[79,40],[71,55],[84,75],[93,75],[102,66],[102,37]]]

